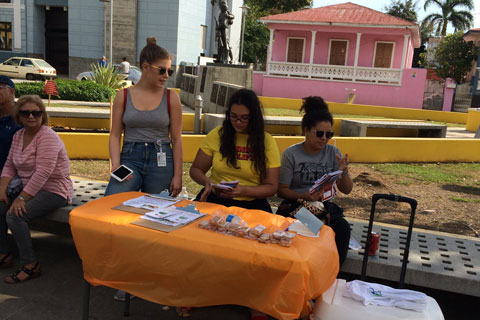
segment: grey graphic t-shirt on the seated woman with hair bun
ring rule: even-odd
[[[335,154],[342,156],[337,147],[329,144],[316,154],[306,153],[303,142],[288,147],[282,154],[280,184],[286,184],[296,192],[306,192],[315,180],[338,170]]]

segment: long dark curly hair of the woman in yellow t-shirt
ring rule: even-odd
[[[267,174],[267,157],[265,155],[265,124],[263,121],[262,106],[257,95],[252,90],[240,89],[235,92],[229,102],[225,113],[225,120],[220,129],[220,153],[227,159],[227,165],[238,169],[237,150],[235,146],[235,128],[230,119],[232,105],[241,104],[250,111],[248,120],[247,148],[250,149],[250,160],[255,172],[262,181]]]

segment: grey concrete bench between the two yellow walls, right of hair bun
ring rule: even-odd
[[[366,137],[367,130],[371,128],[411,130],[415,136],[422,138],[445,138],[447,134],[447,126],[426,122],[342,120],[340,136]]]

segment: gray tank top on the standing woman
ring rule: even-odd
[[[162,102],[153,110],[142,111],[135,108],[127,89],[127,104],[123,113],[125,127],[124,141],[128,142],[170,142],[168,127],[170,117],[167,109],[167,90],[164,91]]]

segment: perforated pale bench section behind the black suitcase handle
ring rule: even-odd
[[[365,245],[368,221],[347,218],[352,236]],[[398,282],[407,228],[374,223],[380,234],[377,255],[369,257],[367,276]],[[341,271],[362,272],[363,249],[349,250]],[[413,230],[405,283],[480,297],[480,239]]]

